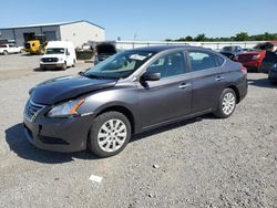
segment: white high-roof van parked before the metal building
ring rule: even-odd
[[[48,42],[44,54],[40,59],[40,67],[66,70],[68,66],[74,67],[76,63],[75,49],[72,42],[50,41]]]

